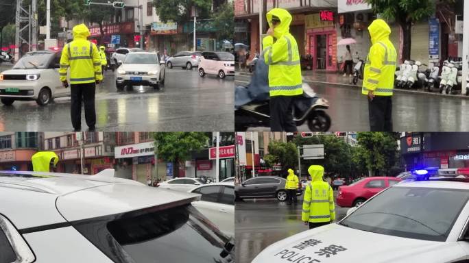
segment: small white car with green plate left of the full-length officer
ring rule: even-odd
[[[36,101],[46,105],[54,98],[70,96],[70,88],[60,82],[60,50],[28,52],[12,69],[0,73],[0,101]]]

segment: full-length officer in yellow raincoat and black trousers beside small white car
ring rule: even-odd
[[[82,129],[82,101],[85,120],[89,131],[96,125],[95,89],[103,80],[101,57],[96,45],[86,40],[90,36],[84,24],[73,27],[73,41],[62,49],[60,58],[60,81],[67,88],[67,68],[70,68],[71,84],[71,121],[75,132]]]

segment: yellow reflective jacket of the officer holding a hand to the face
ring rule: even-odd
[[[280,18],[280,24],[272,27],[272,16]],[[267,13],[269,27],[274,28],[274,38],[263,39],[263,56],[269,65],[270,96],[302,95],[300,53],[295,38],[289,33],[291,14],[285,9],[274,8]]]

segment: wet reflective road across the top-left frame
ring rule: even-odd
[[[8,65],[0,65],[0,71]],[[191,71],[167,68],[164,88],[134,86],[117,91],[115,75],[107,71],[97,87],[99,131],[232,131],[234,129],[233,77],[200,77]],[[82,129],[86,130],[84,111]],[[0,105],[0,131],[71,131],[70,97],[46,106],[36,101]]]

